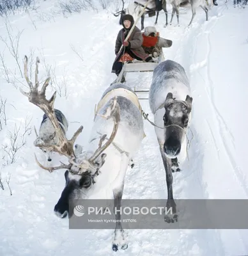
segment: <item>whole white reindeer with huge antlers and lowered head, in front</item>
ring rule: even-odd
[[[102,194],[103,191],[108,191],[108,198],[112,198],[114,207],[120,209],[128,163],[136,154],[144,138],[143,116],[136,94],[125,84],[117,83],[109,86],[98,102],[88,147],[85,152],[77,150],[76,153],[77,148],[82,149],[82,147],[78,147],[79,145],[75,145],[74,150],[74,143],[83,127],[79,127],[71,140],[66,139],[54,115],[56,92],[49,100],[46,99],[45,90],[49,84],[49,78],[46,79],[42,89],[38,91],[37,70],[38,60],[36,60],[35,86],[33,86],[27,77],[27,57],[25,56],[24,75],[30,90],[29,92],[20,90],[20,92],[49,117],[59,136],[59,143],[58,145],[39,143],[36,144],[36,147],[59,152],[68,157],[69,162],[60,166],[45,167],[36,159],[37,164],[49,172],[66,169],[66,184],[54,207],[55,214],[59,218],[66,216],[70,218],[69,200],[94,198],[96,195]],[[107,142],[102,145],[105,140]],[[117,251],[120,247],[125,250],[127,242],[125,232],[121,227],[120,211],[115,218],[117,221],[112,250]]]

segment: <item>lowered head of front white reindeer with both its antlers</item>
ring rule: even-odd
[[[99,170],[104,164],[104,159],[106,154],[104,154],[104,150],[109,147],[111,142],[114,140],[116,136],[116,132],[118,129],[118,125],[120,123],[120,106],[117,102],[117,97],[111,100],[111,104],[109,108],[107,108],[105,115],[103,118],[109,119],[113,118],[114,126],[109,137],[109,140],[102,145],[106,138],[106,134],[104,134],[98,143],[98,148],[95,153],[91,154],[91,157],[84,157],[84,159],[80,159],[79,155],[82,152],[82,147],[79,145],[75,145],[74,143],[77,136],[82,132],[82,126],[75,132],[74,136],[72,136],[71,140],[67,140],[65,134],[61,130],[60,125],[58,124],[58,120],[54,114],[54,100],[56,98],[56,92],[52,95],[50,100],[45,98],[45,89],[49,84],[49,78],[45,81],[42,86],[40,92],[38,91],[38,63],[39,60],[36,60],[36,72],[35,72],[35,86],[29,81],[27,77],[27,57],[25,56],[24,62],[24,75],[26,77],[27,84],[29,84],[30,92],[24,92],[20,89],[22,94],[26,95],[30,102],[41,108],[45,114],[50,119],[54,130],[56,131],[56,136],[58,136],[58,143],[56,145],[44,143],[44,141],[38,140],[35,144],[36,147],[40,147],[43,150],[52,150],[54,152],[58,152],[66,157],[68,157],[69,164],[61,164],[56,167],[45,167],[38,162],[36,159],[36,163],[45,170],[49,170],[49,172],[53,172],[58,169],[66,169],[65,172],[65,188],[61,193],[61,197],[59,198],[58,204],[55,205],[54,211],[57,216],[64,218],[68,215],[68,205],[70,199],[84,198],[87,196],[89,191],[93,189],[95,184],[95,179],[99,175]]]

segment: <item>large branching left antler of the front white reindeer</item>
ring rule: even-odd
[[[38,86],[39,86],[38,63],[40,63],[40,60],[37,57],[36,58],[36,69],[35,69],[35,86],[33,86],[33,83],[29,80],[29,78],[27,76],[27,56],[25,56],[24,76],[26,78],[27,84],[29,85],[30,91],[24,92],[20,88],[20,92],[28,98],[29,102],[35,104],[36,106],[38,106],[40,109],[42,109],[45,112],[45,114],[50,119],[50,122],[52,122],[52,125],[54,126],[56,133],[58,134],[59,143],[58,143],[58,145],[45,145],[43,143],[40,143],[40,144],[37,143],[35,146],[41,147],[41,148],[49,148],[50,150],[58,152],[59,154],[62,154],[64,156],[68,157],[69,159],[75,159],[73,147],[74,147],[75,140],[77,139],[77,136],[79,136],[79,134],[82,132],[83,127],[81,125],[81,127],[79,127],[79,129],[77,129],[74,136],[72,136],[71,140],[66,139],[66,137],[63,134],[63,131],[61,130],[61,127],[58,123],[58,120],[54,114],[54,101],[56,99],[56,92],[54,92],[54,94],[52,95],[52,97],[49,100],[47,100],[45,97],[45,90],[46,90],[47,86],[49,85],[50,77],[48,77],[45,80],[45,83],[43,84],[40,92],[38,91]],[[47,168],[42,166],[42,164],[39,164],[39,165],[43,169],[47,170]],[[71,164],[69,164],[68,166],[71,166]],[[67,168],[68,166],[66,166],[65,164],[62,164],[61,166],[54,167],[52,170],[57,170],[59,168]]]

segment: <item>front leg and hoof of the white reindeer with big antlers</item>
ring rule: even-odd
[[[123,188],[124,188],[124,179],[127,171],[129,159],[127,156],[123,154],[123,160],[121,161],[121,169],[120,173],[118,175],[117,182],[118,185],[116,185],[113,189],[114,194],[114,207],[117,210],[115,214],[116,218],[116,229],[114,230],[114,239],[112,241],[112,250],[114,252],[118,251],[118,246],[121,246],[122,250],[127,249],[128,245],[125,239],[125,233],[123,228],[121,227],[121,214],[120,214],[120,207],[121,207],[121,198],[123,195]]]

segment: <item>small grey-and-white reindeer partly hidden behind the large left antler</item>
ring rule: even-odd
[[[54,109],[54,113],[63,131],[63,134],[65,135],[66,132],[68,131],[68,121],[66,120],[65,115],[63,115],[63,113],[59,109]],[[50,119],[45,114],[43,115],[42,123],[40,124],[39,136],[36,132],[36,129],[35,129],[35,133],[37,138],[34,142],[34,145],[36,145],[37,143],[45,143],[47,145],[50,145],[50,144],[58,144],[59,142],[58,134],[56,134],[56,131],[54,130],[52,122],[50,122]],[[40,148],[40,149],[47,157],[47,161],[49,162],[52,161],[52,154],[54,152],[47,148]]]

